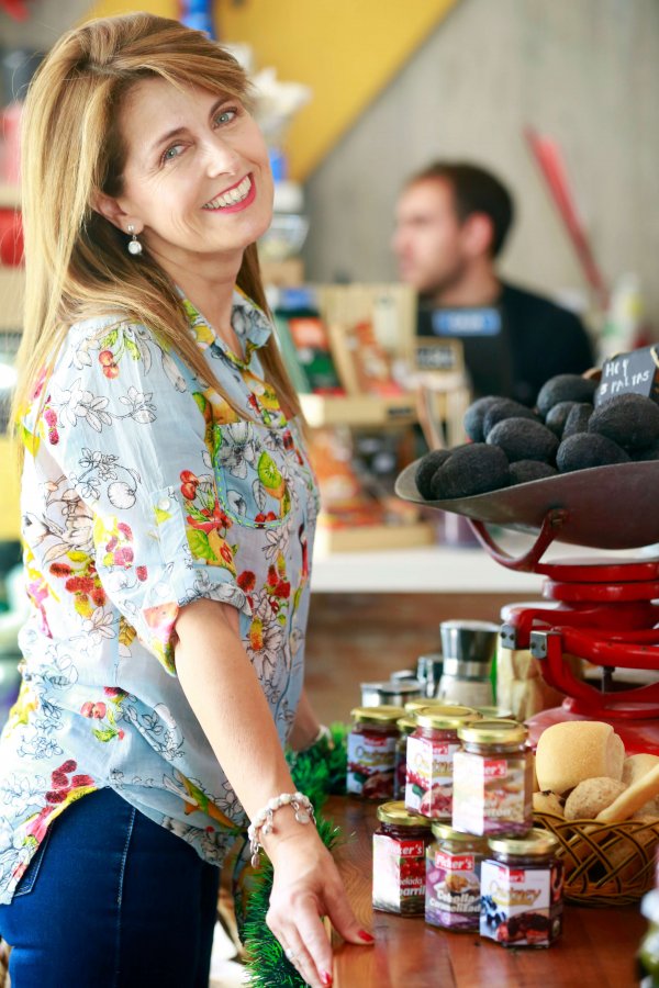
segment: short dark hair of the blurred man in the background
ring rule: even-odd
[[[473,213],[484,213],[492,222],[492,257],[496,257],[511,228],[515,205],[505,186],[490,171],[466,161],[434,161],[413,176],[407,186],[443,179],[453,189],[456,213],[463,223]]]

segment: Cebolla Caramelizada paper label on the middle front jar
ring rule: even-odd
[[[428,853],[426,869],[427,923],[446,930],[478,930],[481,910],[482,855]]]

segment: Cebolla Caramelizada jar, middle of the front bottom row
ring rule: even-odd
[[[433,834],[435,842],[426,851],[426,923],[457,932],[478,931],[488,841],[447,823],[433,823]]]

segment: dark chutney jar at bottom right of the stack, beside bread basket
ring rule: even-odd
[[[481,867],[481,936],[502,946],[547,947],[562,929],[559,842],[539,827],[522,838],[492,838]]]

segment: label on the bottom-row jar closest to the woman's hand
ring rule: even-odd
[[[373,834],[373,908],[387,912],[423,913],[425,902],[424,841]]]

